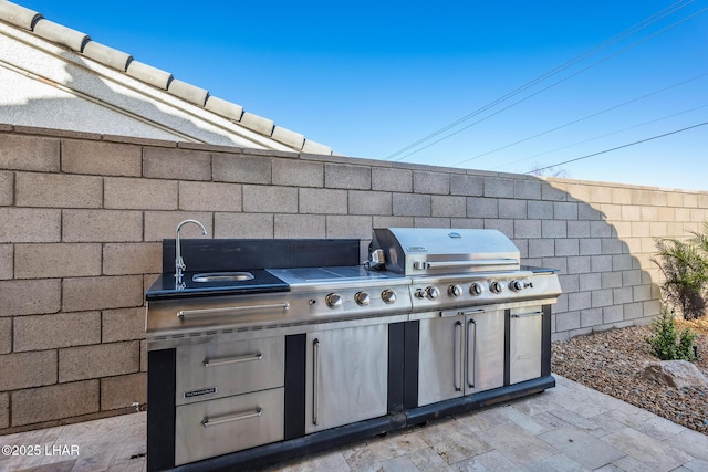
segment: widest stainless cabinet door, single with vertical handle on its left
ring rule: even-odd
[[[305,432],[386,415],[388,325],[308,333]]]

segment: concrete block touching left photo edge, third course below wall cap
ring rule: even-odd
[[[0,243],[59,242],[62,213],[59,209],[0,208]]]

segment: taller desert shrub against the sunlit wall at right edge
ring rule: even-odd
[[[657,239],[657,258],[652,259],[664,275],[664,300],[678,307],[685,319],[700,317],[706,312],[708,237],[698,233],[694,235],[688,241]]]

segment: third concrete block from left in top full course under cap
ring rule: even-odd
[[[154,179],[210,180],[211,155],[192,149],[145,147],[143,176]]]

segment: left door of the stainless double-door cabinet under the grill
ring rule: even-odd
[[[465,317],[420,319],[418,406],[464,395]]]

